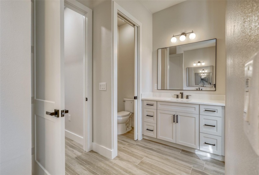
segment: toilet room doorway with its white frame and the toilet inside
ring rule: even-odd
[[[120,25],[121,22],[126,22],[127,25],[125,23],[122,23],[122,25]],[[128,33],[125,32],[126,35],[122,35],[124,33],[122,30],[123,27],[128,28],[130,32],[129,31]],[[134,33],[134,35],[132,35],[132,33]],[[118,147],[122,146],[120,142],[121,140],[124,141],[124,143],[125,141],[128,141],[128,143],[132,143],[132,142],[135,142],[135,140],[142,139],[142,119],[140,118],[142,114],[142,110],[141,110],[142,103],[140,99],[141,83],[142,83],[142,78],[141,78],[142,76],[141,74],[142,35],[141,33],[142,33],[141,22],[139,22],[136,18],[134,18],[130,13],[128,13],[121,6],[119,6],[116,2],[113,2],[113,60],[112,60],[113,61],[113,68],[112,68],[113,69],[113,76],[112,76],[113,137],[112,137],[111,159],[117,156]],[[125,41],[125,40],[128,40],[128,41]],[[133,44],[132,44],[132,41],[134,41]],[[126,45],[125,43],[128,43],[129,47],[127,46],[124,47]],[[133,49],[132,49],[132,45],[133,45]],[[125,60],[125,58],[127,59]],[[124,69],[124,70],[121,70],[121,69]],[[124,88],[125,91],[128,91],[130,93],[126,94],[122,92],[123,88],[121,87],[123,86],[125,87]],[[124,111],[125,113],[122,114],[120,113],[121,111]],[[122,122],[123,117],[126,117],[125,119],[126,121]],[[124,128],[124,132],[126,130],[126,133],[122,132],[124,133],[124,135],[121,134],[121,130],[122,130],[120,126],[121,124],[123,124],[122,127]],[[130,136],[130,137],[127,138],[127,136]],[[127,140],[125,140],[126,138]]]

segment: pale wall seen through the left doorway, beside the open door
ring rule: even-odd
[[[83,137],[84,16],[64,9],[65,130]],[[75,136],[77,137],[77,136]],[[71,137],[69,137],[71,138]],[[71,138],[72,140],[74,138]]]

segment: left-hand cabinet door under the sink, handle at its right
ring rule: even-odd
[[[176,112],[157,110],[157,138],[176,141]]]

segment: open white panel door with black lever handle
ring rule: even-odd
[[[65,174],[64,1],[35,1],[36,174]],[[57,109],[57,115],[54,114]]]

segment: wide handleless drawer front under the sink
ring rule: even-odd
[[[174,111],[180,113],[199,114],[198,104],[157,102],[157,109],[164,111]]]

